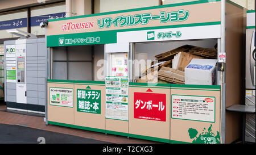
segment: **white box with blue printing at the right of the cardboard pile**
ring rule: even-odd
[[[214,85],[216,59],[193,58],[185,67],[185,85]]]

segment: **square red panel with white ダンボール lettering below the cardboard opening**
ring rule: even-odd
[[[166,94],[134,93],[134,118],[166,122]]]

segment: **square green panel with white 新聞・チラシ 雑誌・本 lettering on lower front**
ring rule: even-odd
[[[101,114],[101,90],[77,89],[77,111]]]

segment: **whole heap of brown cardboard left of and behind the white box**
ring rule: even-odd
[[[216,49],[195,47],[192,45],[183,45],[155,56],[159,62],[147,66],[143,70],[143,77],[137,82],[158,82],[166,81],[177,84],[185,83],[184,70],[193,58],[212,59],[217,58]],[[207,60],[206,60],[207,61]],[[158,78],[152,73],[158,72]]]

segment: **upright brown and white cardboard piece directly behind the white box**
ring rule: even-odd
[[[185,67],[189,64],[192,58],[203,58],[200,56],[192,55],[186,52],[179,52],[172,60],[172,68],[184,71]]]

